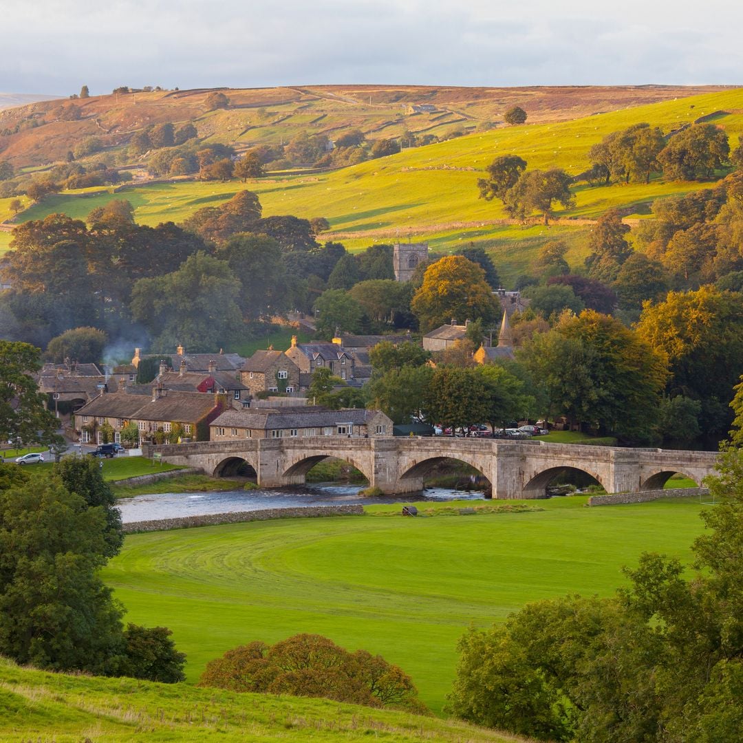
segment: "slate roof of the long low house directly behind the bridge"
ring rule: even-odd
[[[231,428],[270,430],[280,428],[319,428],[336,424],[365,424],[377,415],[378,410],[342,409],[328,410],[319,406],[276,409],[227,410],[210,425]]]

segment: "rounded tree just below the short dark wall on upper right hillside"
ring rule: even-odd
[[[727,134],[714,124],[692,124],[674,134],[658,161],[663,175],[671,181],[698,181],[712,178],[727,164],[730,143]]]

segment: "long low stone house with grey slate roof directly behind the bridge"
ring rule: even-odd
[[[391,436],[392,420],[380,410],[329,410],[322,406],[227,410],[212,421],[211,440],[300,436]]]

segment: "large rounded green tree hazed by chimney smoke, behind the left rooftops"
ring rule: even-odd
[[[181,267],[132,288],[132,317],[157,337],[159,348],[228,345],[242,328],[241,284],[230,266],[203,251]]]

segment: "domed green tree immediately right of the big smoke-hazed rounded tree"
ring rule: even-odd
[[[215,257],[227,261],[242,289],[239,304],[252,319],[285,311],[286,269],[279,243],[265,235],[238,233],[218,247]]]

